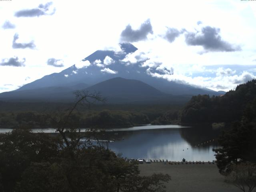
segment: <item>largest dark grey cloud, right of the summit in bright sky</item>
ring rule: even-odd
[[[221,39],[220,29],[210,26],[203,27],[201,32],[188,32],[185,35],[186,44],[191,46],[203,46],[206,52],[233,52],[241,50],[240,46],[234,46]]]

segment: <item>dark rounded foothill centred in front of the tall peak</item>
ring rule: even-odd
[[[100,92],[108,103],[184,103],[188,96],[173,96],[139,80],[112,78],[86,88],[90,92]]]

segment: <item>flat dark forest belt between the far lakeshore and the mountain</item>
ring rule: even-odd
[[[63,113],[70,106],[72,103],[0,102],[0,128],[14,128],[20,125],[30,128],[50,127],[49,120],[45,118]],[[182,105],[168,104],[94,104],[89,108],[78,106],[73,118],[74,123],[82,128],[121,128],[149,123],[170,124],[169,119],[177,120],[181,108]]]

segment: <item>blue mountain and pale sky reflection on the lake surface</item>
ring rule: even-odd
[[[192,130],[197,132],[197,128],[180,128],[118,131],[114,132],[118,133],[118,135],[113,132],[107,134],[110,139],[115,136],[121,139],[110,143],[109,148],[116,153],[122,153],[127,158],[161,158],[172,161],[181,161],[182,158],[188,161],[215,160],[212,148],[217,146],[216,144],[211,143],[207,146],[194,148],[190,142],[187,142],[182,137],[181,134],[189,135]],[[206,136],[203,134],[206,134]],[[194,138],[194,142],[198,143],[202,138],[208,138],[208,132],[201,132],[201,137]]]

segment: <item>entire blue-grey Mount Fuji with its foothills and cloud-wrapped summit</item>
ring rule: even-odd
[[[120,44],[121,51],[98,50],[60,73],[46,75],[21,88],[0,94],[0,100],[71,101],[75,90],[97,91],[110,102],[177,100],[198,94],[220,95],[210,89],[156,78],[142,66],[146,60],[124,62],[138,50],[130,43]],[[160,72],[158,72],[160,73]],[[183,95],[183,96],[180,96]],[[178,99],[179,100],[179,99]]]

